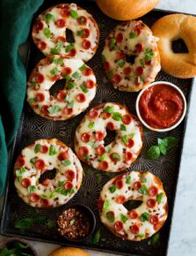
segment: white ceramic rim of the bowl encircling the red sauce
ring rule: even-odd
[[[153,86],[160,85],[160,84],[162,84],[162,85],[167,85],[167,86],[170,86],[170,87],[175,88],[175,89],[178,91],[178,93],[181,95],[181,97],[182,97],[182,99],[183,99],[183,102],[184,102],[183,114],[182,114],[182,116],[180,117],[180,119],[178,120],[178,122],[177,122],[176,124],[173,124],[171,127],[168,127],[168,128],[165,128],[165,129],[156,129],[156,128],[153,128],[153,127],[149,126],[149,124],[147,124],[147,123],[143,120],[143,118],[142,118],[142,116],[141,116],[141,114],[140,114],[140,109],[139,109],[139,102],[140,102],[140,99],[141,99],[141,96],[142,96],[143,92],[145,92],[149,87],[153,87]],[[137,116],[138,116],[138,118],[140,119],[140,121],[142,122],[142,124],[143,124],[144,126],[146,126],[147,128],[149,128],[149,129],[152,130],[152,131],[156,131],[156,132],[168,132],[168,131],[171,131],[172,129],[176,128],[176,127],[183,121],[183,119],[184,119],[184,117],[185,117],[185,112],[186,112],[186,100],[185,100],[185,95],[183,94],[183,92],[182,92],[177,86],[175,86],[174,84],[172,84],[172,83],[170,83],[170,82],[165,82],[165,81],[154,82],[154,83],[150,84],[149,86],[144,87],[144,88],[142,89],[142,91],[140,92],[140,94],[138,94],[137,100],[136,100],[136,106],[135,106],[135,108],[136,108]]]

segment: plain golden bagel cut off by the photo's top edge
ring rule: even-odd
[[[137,19],[151,11],[158,0],[96,0],[98,7],[113,19]]]

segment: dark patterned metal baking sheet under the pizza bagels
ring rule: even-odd
[[[66,3],[69,2],[70,1],[66,1]],[[91,106],[89,107],[89,109],[91,109],[91,107],[97,105],[100,102],[120,102],[126,104],[128,109],[135,114],[134,104],[137,93],[124,93],[115,90],[112,84],[108,82],[105,78],[105,72],[103,71],[101,64],[101,52],[104,47],[105,37],[113,29],[113,27],[115,27],[120,22],[106,17],[101,11],[98,10],[97,5],[93,3],[93,1],[75,1],[76,4],[78,2],[80,6],[93,14],[94,18],[98,22],[98,26],[100,29],[100,43],[98,46],[98,51],[96,55],[91,59],[91,61],[88,62],[88,64],[95,72],[98,81],[97,94],[93,102],[91,102]],[[59,3],[62,3],[62,1],[53,1],[53,3],[51,3],[50,1],[45,1],[38,13],[47,9],[51,5]],[[159,19],[163,17],[163,15],[166,15],[168,13],[172,12],[161,10],[150,11],[149,14],[143,16],[141,19],[147,25],[151,26],[156,21],[156,19]],[[42,57],[44,56],[40,53],[40,50],[34,46],[33,41],[30,38],[27,62],[28,75],[33,70],[35,64],[37,64]],[[192,91],[192,79],[176,79],[169,76],[165,72],[159,72],[156,80],[170,81],[178,85],[178,87],[180,87],[185,94],[187,106],[189,109],[190,95]],[[63,83],[57,82],[51,90],[51,93],[58,91],[58,89],[62,86]],[[160,177],[163,182],[163,186],[169,200],[169,216],[168,220],[163,226],[163,229],[160,230],[159,245],[149,245],[149,241],[151,238],[143,240],[141,242],[129,242],[126,240],[123,241],[122,239],[113,236],[113,234],[109,230],[107,230],[103,224],[101,224],[101,222],[99,221],[97,207],[99,192],[102,189],[103,185],[106,183],[106,181],[111,177],[116,176],[117,174],[107,174],[98,171],[97,169],[92,169],[86,164],[83,164],[83,169],[85,172],[85,176],[83,177],[83,185],[79,192],[76,193],[76,196],[69,201],[69,205],[75,203],[83,203],[91,207],[97,218],[96,230],[101,230],[101,239],[97,245],[93,245],[91,243],[91,238],[81,244],[71,243],[69,241],[66,241],[63,237],[60,237],[55,228],[49,229],[47,225],[39,222],[36,222],[33,225],[33,228],[28,230],[18,230],[14,228],[14,223],[19,218],[38,217],[40,215],[44,215],[47,216],[50,220],[56,220],[58,214],[63,209],[63,206],[49,209],[34,209],[26,205],[22,200],[18,198],[18,194],[13,184],[12,176],[13,164],[16,160],[17,155],[22,148],[33,143],[34,140],[42,138],[58,138],[65,142],[69,147],[73,148],[73,140],[76,126],[77,124],[79,124],[86,111],[88,111],[87,109],[81,115],[68,121],[53,122],[37,116],[29,107],[27,102],[25,102],[24,105],[24,110],[21,117],[21,124],[18,129],[18,133],[11,152],[9,177],[5,192],[4,210],[1,222],[1,233],[7,236],[24,237],[27,239],[56,243],[60,245],[74,245],[86,249],[112,252],[117,254],[119,253],[124,255],[166,255],[171,229],[171,216],[178,181],[178,171],[185,135],[185,124],[188,116],[188,109],[185,121],[180,124],[178,128],[172,130],[171,132],[158,133],[144,129],[144,144],[142,148],[142,154],[140,154],[136,162],[132,164],[131,168],[128,169],[150,170],[156,176]],[[172,149],[170,154],[161,157],[157,161],[150,161],[146,159],[146,150],[151,145],[156,144],[157,138],[163,138],[169,135],[176,136],[180,139],[178,147]]]

